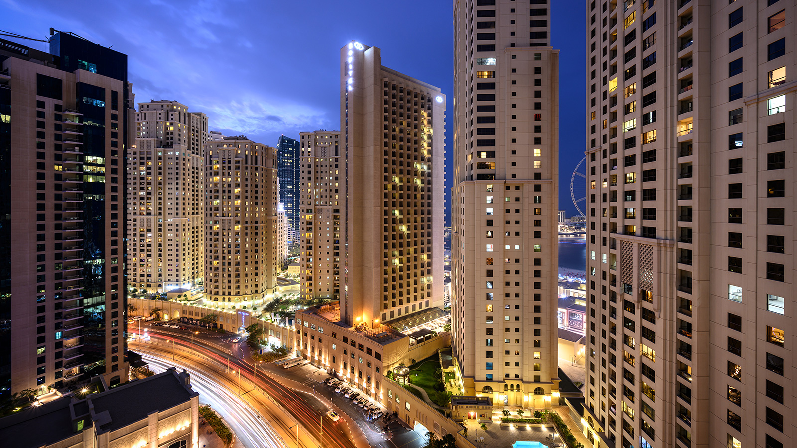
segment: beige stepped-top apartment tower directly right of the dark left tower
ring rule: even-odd
[[[127,155],[128,286],[193,288],[204,277],[207,116],[173,100],[139,103]]]

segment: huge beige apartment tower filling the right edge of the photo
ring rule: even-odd
[[[795,2],[585,4],[585,434],[795,446]]]

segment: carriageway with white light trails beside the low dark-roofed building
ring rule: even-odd
[[[142,356],[152,371],[159,373],[169,367],[175,367],[171,360],[157,358],[150,354]],[[284,448],[283,442],[268,423],[248,403],[244,403],[234,391],[208,378],[189,366],[185,366],[191,375],[191,387],[199,392],[199,403],[210,404],[219,415],[230,425],[235,437],[246,448]],[[295,442],[290,446],[296,446]]]

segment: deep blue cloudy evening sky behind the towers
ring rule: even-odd
[[[551,3],[552,45],[560,50],[559,207],[570,216],[571,173],[585,147],[586,2]],[[381,48],[383,65],[442,88],[449,107],[453,98],[448,0],[0,0],[0,11],[3,31],[44,40],[52,27],[112,45],[128,54],[136,101],[179,100],[205,112],[211,130],[258,143],[340,128],[339,55],[351,40]]]

